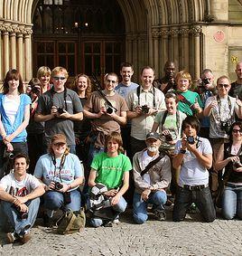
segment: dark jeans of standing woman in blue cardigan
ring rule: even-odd
[[[23,153],[28,156],[28,146],[27,142],[11,142],[14,147],[14,155],[18,153]],[[5,175],[5,172],[9,172],[13,166],[13,161],[11,163],[7,163],[5,159],[5,144],[3,141],[0,141],[0,179]]]

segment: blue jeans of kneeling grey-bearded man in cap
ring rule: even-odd
[[[133,217],[137,224],[143,224],[148,219],[147,206],[148,204],[154,204],[156,209],[163,211],[163,204],[167,201],[165,191],[156,191],[149,195],[147,201],[141,198],[141,194],[135,192],[133,198]]]

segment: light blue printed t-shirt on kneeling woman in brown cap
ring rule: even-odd
[[[66,156],[64,165],[60,173],[61,158],[56,159],[56,168],[53,164],[50,154],[41,156],[35,166],[34,176],[42,179],[46,185],[50,185],[51,181],[70,184],[75,178],[83,176],[83,166],[79,162],[79,157],[74,154]],[[76,189],[73,188],[71,190]]]

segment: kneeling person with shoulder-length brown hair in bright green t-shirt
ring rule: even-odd
[[[126,193],[129,183],[129,171],[132,169],[131,162],[123,153],[122,137],[118,132],[111,132],[107,135],[105,151],[94,157],[91,164],[91,171],[88,179],[90,187],[102,184],[107,186],[104,194],[110,201],[111,206],[117,213],[126,210],[126,200],[123,194]],[[118,218],[115,223],[118,223]],[[107,224],[98,217],[92,217],[91,224],[98,227]]]

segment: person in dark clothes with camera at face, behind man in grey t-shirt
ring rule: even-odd
[[[33,78],[31,81],[29,81],[29,86],[30,92],[28,95],[32,100],[32,105],[30,110],[30,123],[26,129],[28,133],[27,143],[29,149],[29,157],[31,159],[28,172],[33,174],[37,160],[40,156],[46,153],[47,148],[45,143],[43,123],[34,121],[35,110],[38,106],[39,97],[42,94],[42,84],[41,81],[39,81],[37,78]],[[38,147],[36,147],[36,145],[38,145]]]

